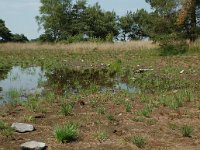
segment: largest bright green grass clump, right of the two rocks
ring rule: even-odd
[[[78,125],[74,122],[67,122],[63,126],[56,126],[54,136],[62,143],[74,141],[78,136]]]

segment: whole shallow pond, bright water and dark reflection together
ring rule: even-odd
[[[35,93],[42,95],[45,87],[52,87],[57,94],[76,94],[92,88],[98,92],[115,93],[122,90],[129,93],[139,92],[123,78],[105,68],[99,70],[60,68],[47,71],[41,67],[15,66],[0,70],[0,104],[13,99],[23,101]],[[44,83],[45,87],[42,86]]]

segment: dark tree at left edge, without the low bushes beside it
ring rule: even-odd
[[[6,27],[5,22],[2,19],[0,19],[0,42],[11,41],[11,38],[11,31]]]

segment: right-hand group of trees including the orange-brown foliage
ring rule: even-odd
[[[156,28],[155,36],[158,38],[174,37],[195,41],[200,19],[200,0],[146,0],[153,9],[149,13],[153,27]],[[152,35],[152,34],[150,34]],[[155,37],[154,36],[154,37]]]

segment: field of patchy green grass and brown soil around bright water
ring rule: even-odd
[[[0,44],[0,80],[41,66],[42,96],[0,108],[0,148],[30,140],[47,149],[200,149],[200,44],[161,56],[151,42]],[[138,90],[105,90],[128,84]],[[13,122],[36,131],[19,134]]]

